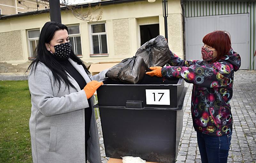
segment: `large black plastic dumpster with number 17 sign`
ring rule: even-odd
[[[103,82],[94,107],[100,108],[106,156],[175,162],[187,91],[184,80],[146,75],[139,84]]]

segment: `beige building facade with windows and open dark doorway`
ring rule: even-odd
[[[84,62],[121,61],[134,56],[147,39],[141,30],[144,27],[164,36],[161,0],[106,5],[101,2],[101,7],[102,19],[91,23],[75,18],[70,11],[61,11],[62,24],[69,29],[72,49]],[[83,10],[86,11],[87,7]],[[49,17],[49,12],[0,17],[0,62],[17,65],[33,58],[39,32],[45,22],[50,21]],[[168,1],[167,24],[169,47],[183,58],[180,0]]]

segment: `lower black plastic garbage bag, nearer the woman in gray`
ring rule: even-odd
[[[134,56],[132,58],[124,59],[121,63],[110,68],[107,72],[107,76],[114,81],[136,84],[148,71],[148,66],[143,58]]]

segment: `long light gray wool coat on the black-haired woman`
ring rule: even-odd
[[[68,59],[83,76],[86,83],[105,79],[106,71],[88,76],[81,65]],[[84,90],[74,78],[69,80],[76,87],[65,89],[64,83],[54,84],[51,70],[39,62],[35,73],[31,71],[28,86],[31,93],[31,135],[34,163],[85,163],[85,116],[84,108],[89,104]],[[59,91],[60,88],[60,91]],[[93,96],[90,98],[92,106]],[[90,139],[87,141],[87,159],[90,163],[100,163],[98,128],[92,109]]]

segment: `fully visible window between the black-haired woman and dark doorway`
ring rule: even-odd
[[[106,24],[92,24],[91,37],[93,54],[91,54],[90,56],[97,56],[94,54],[100,54],[100,56],[102,56],[102,54],[107,54],[108,56]]]

